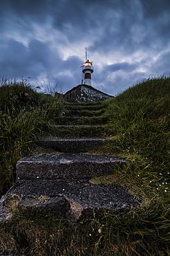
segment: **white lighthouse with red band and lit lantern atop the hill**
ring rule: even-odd
[[[82,84],[87,84],[91,86],[92,85],[91,74],[94,72],[94,67],[92,66],[92,62],[89,62],[89,60],[87,60],[87,48],[85,48],[85,63],[82,66],[82,72],[84,73]]]

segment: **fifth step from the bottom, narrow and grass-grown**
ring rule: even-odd
[[[108,120],[109,118],[107,116],[63,116],[56,118],[56,123],[59,125],[104,125]]]

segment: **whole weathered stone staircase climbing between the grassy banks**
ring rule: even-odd
[[[28,156],[17,162],[17,181],[0,201],[0,219],[10,219],[12,212],[6,209],[12,201],[22,210],[55,212],[74,221],[81,215],[89,217],[94,210],[139,205],[138,199],[120,185],[90,182],[95,176],[113,174],[118,165],[126,163],[114,156],[87,154],[90,149],[111,143],[111,139],[98,136],[109,129],[103,125],[108,118],[102,113],[100,102],[65,104],[65,116],[53,127],[56,138],[36,141],[59,153]]]

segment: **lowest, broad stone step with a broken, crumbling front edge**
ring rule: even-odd
[[[23,210],[53,210],[59,216],[74,220],[81,215],[89,217],[94,210],[126,210],[140,205],[140,201],[120,185],[95,185],[89,181],[24,180],[17,181],[1,199],[1,216],[6,214],[8,203],[13,200],[12,194]]]

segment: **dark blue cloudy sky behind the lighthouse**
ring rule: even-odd
[[[0,0],[0,78],[65,92],[85,47],[92,86],[111,95],[170,75],[170,0]]]

